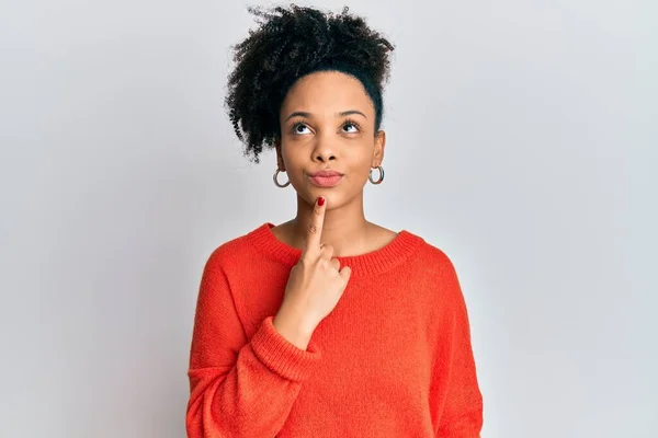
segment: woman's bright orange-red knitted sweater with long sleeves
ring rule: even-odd
[[[483,399],[451,261],[402,230],[352,275],[308,348],[272,325],[300,251],[265,222],[209,256],[190,358],[191,438],[478,437]]]

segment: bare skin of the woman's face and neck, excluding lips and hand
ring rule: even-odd
[[[341,114],[352,111],[361,114]],[[288,118],[297,112],[307,114]],[[300,78],[286,94],[280,125],[277,166],[297,193],[297,214],[272,229],[279,240],[304,247],[319,196],[328,201],[321,243],[332,246],[333,256],[368,253],[395,239],[397,233],[367,221],[363,211],[363,188],[370,169],[384,160],[386,135],[375,132],[374,105],[358,79],[339,71]],[[339,185],[309,181],[310,173],[327,169],[344,174]]]

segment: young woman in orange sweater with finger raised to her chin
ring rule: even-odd
[[[275,149],[274,183],[292,186],[297,211],[205,265],[188,435],[478,437],[483,401],[451,261],[364,217],[364,185],[384,180],[393,46],[347,9],[252,12],[262,20],[236,46],[226,103],[246,155]]]

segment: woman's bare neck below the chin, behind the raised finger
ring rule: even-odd
[[[329,199],[330,201],[330,199]],[[302,247],[313,219],[313,205],[297,195],[297,216],[291,221],[295,246]],[[360,254],[367,247],[372,223],[363,214],[363,193],[345,204],[325,211],[320,242],[333,246],[333,256]]]

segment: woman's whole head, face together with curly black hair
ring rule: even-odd
[[[347,8],[251,12],[262,20],[236,46],[226,99],[245,154],[258,163],[274,147],[279,169],[309,204],[356,197],[384,155],[382,92],[393,46]],[[310,178],[328,169],[343,174],[340,189]]]

